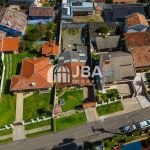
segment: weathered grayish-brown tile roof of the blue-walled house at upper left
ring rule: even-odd
[[[24,31],[27,15],[9,7],[0,11],[0,25],[20,32]]]

